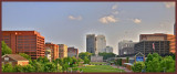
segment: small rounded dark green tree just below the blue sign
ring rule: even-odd
[[[144,67],[145,67],[144,62],[135,62],[134,65],[132,66],[132,70],[134,72],[142,72]]]

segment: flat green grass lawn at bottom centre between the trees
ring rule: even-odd
[[[112,67],[110,65],[88,65],[88,66],[82,66],[79,67],[82,68],[84,73],[90,73],[90,72],[125,72],[123,70],[118,70],[115,67]]]

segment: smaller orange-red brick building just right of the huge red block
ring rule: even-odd
[[[53,43],[45,43],[45,47],[50,47],[51,49],[51,59],[56,60],[59,59],[59,45],[58,44],[53,44]]]

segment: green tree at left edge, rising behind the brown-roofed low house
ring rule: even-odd
[[[4,43],[4,41],[1,41],[1,45],[2,55],[12,53],[12,50]]]

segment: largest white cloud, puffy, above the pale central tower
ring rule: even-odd
[[[117,19],[114,18],[114,15],[107,15],[107,17],[103,17],[98,20],[102,23],[111,23],[111,22],[117,22]]]

